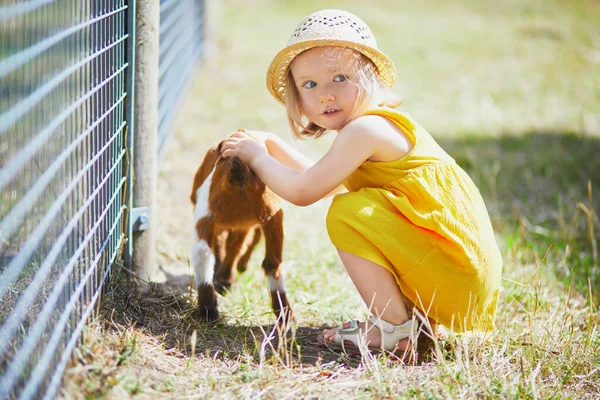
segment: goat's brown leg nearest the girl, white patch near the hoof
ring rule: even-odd
[[[271,306],[273,312],[283,321],[289,321],[292,310],[285,294],[285,285],[282,271],[280,270],[283,252],[283,211],[279,210],[267,223],[263,225],[265,235],[265,259],[262,267],[269,281]]]

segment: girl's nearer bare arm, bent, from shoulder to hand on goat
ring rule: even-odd
[[[376,152],[381,142],[373,140],[362,125],[348,124],[338,133],[327,154],[310,166],[296,159],[293,152],[290,154],[287,151],[283,153],[289,158],[284,156],[281,160],[295,161],[284,164],[275,156],[277,151],[270,154],[270,149],[267,151],[268,144],[265,148],[243,132],[238,132],[225,141],[222,154],[225,157],[240,157],[277,195],[293,204],[306,206],[339,187]],[[294,165],[306,168],[298,170],[293,168]]]

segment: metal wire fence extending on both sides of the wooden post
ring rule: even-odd
[[[0,2],[0,399],[56,394],[123,257],[134,4]],[[160,143],[200,51],[202,4],[161,3]]]

